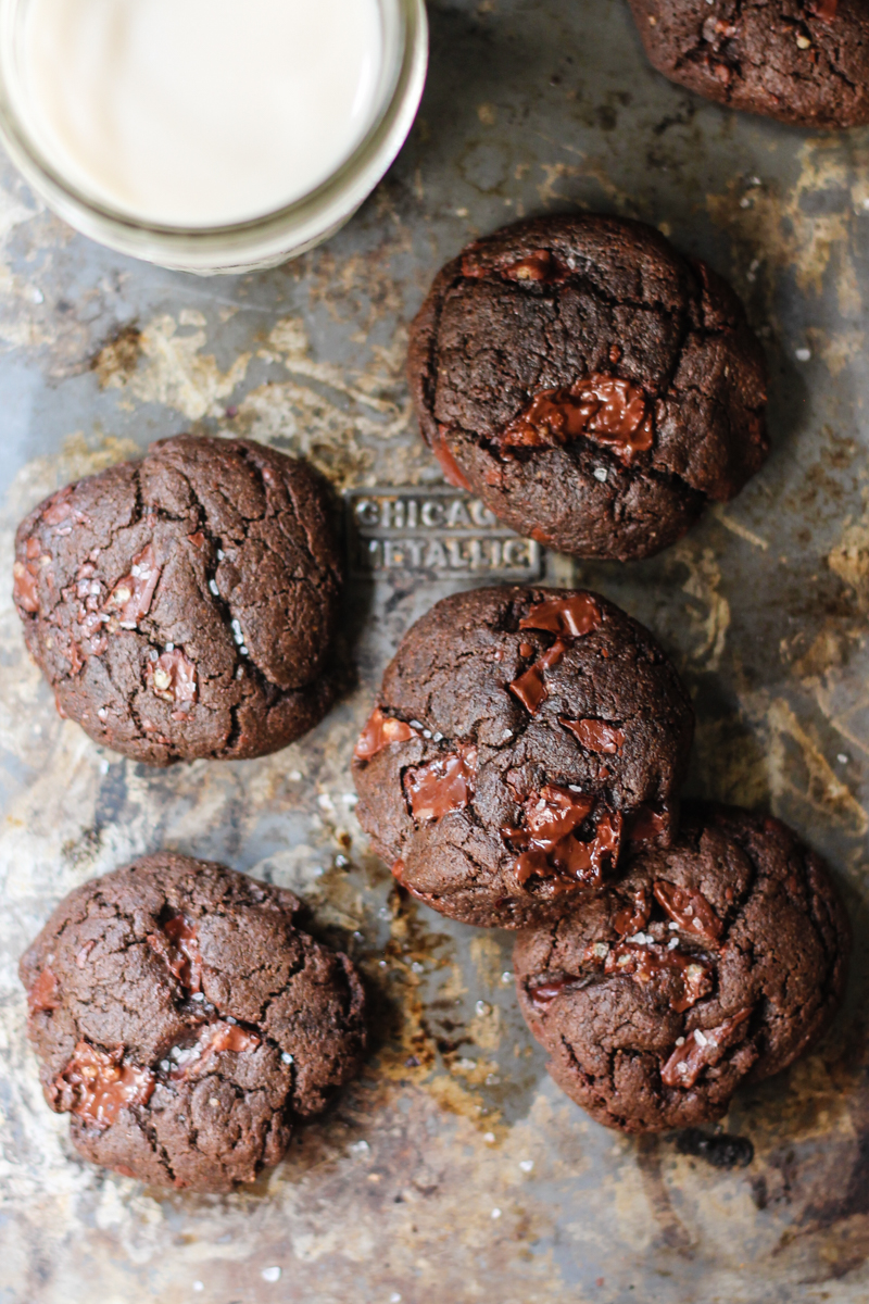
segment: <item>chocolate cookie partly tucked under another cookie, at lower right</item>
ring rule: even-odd
[[[694,808],[671,849],[524,934],[516,983],[558,1085],[607,1127],[659,1132],[720,1118],[740,1082],[801,1055],[849,945],[826,866],[784,824]]]

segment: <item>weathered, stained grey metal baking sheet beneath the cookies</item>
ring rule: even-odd
[[[869,134],[808,136],[681,94],[644,64],[621,0],[436,3],[431,21],[399,163],[341,235],[278,271],[201,282],[125,262],[5,171],[0,570],[40,496],[188,428],[304,452],[341,490],[438,482],[401,366],[442,261],[521,214],[658,224],[745,296],[770,353],[775,451],[661,558],[576,574],[684,670],[692,790],[773,808],[829,855],[859,939],[848,1008],[819,1051],[740,1094],[727,1128],[753,1141],[750,1167],[605,1132],[546,1078],[509,940],[400,906],[353,819],[348,762],[373,685],[449,582],[357,582],[358,690],[278,756],[165,773],[57,719],[4,583],[0,1300],[865,1300]],[[25,1045],[26,940],[73,885],[160,845],[298,888],[377,1005],[360,1085],[231,1198],[165,1197],[79,1163]]]

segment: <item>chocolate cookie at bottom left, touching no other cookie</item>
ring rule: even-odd
[[[300,902],[163,853],[72,892],[21,960],[46,1099],[94,1163],[228,1191],[283,1157],[365,1046],[347,956]]]

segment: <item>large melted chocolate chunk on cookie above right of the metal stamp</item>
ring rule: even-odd
[[[605,443],[625,464],[654,443],[651,402],[631,381],[588,376],[569,390],[534,395],[498,438],[499,449],[552,449],[585,436]]]

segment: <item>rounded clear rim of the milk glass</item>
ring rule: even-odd
[[[8,26],[14,21],[14,10],[20,3],[21,0],[5,0],[3,4],[5,13],[3,26],[0,26],[0,39],[7,44],[7,48],[12,35]],[[188,246],[194,244],[202,248],[210,244],[236,243],[244,240],[245,236],[267,236],[270,232],[285,230],[288,226],[306,226],[315,220],[318,213],[326,214],[330,205],[350,189],[354,181],[362,179],[371,164],[378,160],[384,145],[390,142],[396,121],[401,117],[406,93],[412,89],[414,65],[420,59],[420,40],[421,38],[425,40],[427,35],[425,0],[379,0],[379,3],[393,7],[397,30],[393,51],[388,50],[387,34],[384,33],[384,57],[388,60],[391,56],[391,67],[387,68],[386,87],[379,96],[377,112],[365,134],[344,162],[313,190],[258,216],[215,226],[160,223],[135,218],[130,213],[113,209],[109,203],[86,194],[63,176],[27,132],[9,94],[1,59],[0,140],[7,146],[13,162],[18,164],[25,177],[31,180],[36,189],[51,196],[61,209],[85,213],[93,220],[106,224],[119,233],[150,236],[169,244],[177,241]]]

